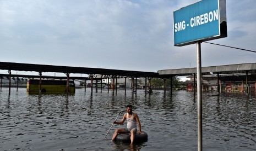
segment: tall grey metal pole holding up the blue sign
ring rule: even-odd
[[[197,42],[197,114],[198,114],[198,151],[203,148],[202,141],[202,85],[201,85],[201,42]]]

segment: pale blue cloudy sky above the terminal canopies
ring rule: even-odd
[[[145,72],[197,67],[196,45],[173,40],[173,11],[195,2],[0,0],[0,61]],[[255,5],[226,0],[227,37],[209,42],[256,51]],[[255,61],[256,53],[201,43],[202,67]]]

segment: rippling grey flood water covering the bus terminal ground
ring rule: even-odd
[[[241,93],[203,92],[203,150],[255,150],[256,99]],[[126,104],[134,106],[148,141],[112,142],[105,135]],[[122,113],[122,115],[124,112]],[[118,120],[122,119],[122,115]],[[75,94],[0,91],[0,150],[197,150],[197,96],[193,92],[143,90],[133,94],[77,89]]]

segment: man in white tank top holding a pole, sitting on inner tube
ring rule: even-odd
[[[139,133],[141,132],[140,127],[140,120],[137,113],[133,113],[133,106],[128,104],[126,106],[127,113],[124,113],[122,121],[113,121],[113,124],[122,125],[125,120],[127,120],[127,128],[120,128],[116,129],[115,133],[113,134],[112,141],[114,141],[118,135],[118,133],[129,133],[130,132],[130,144],[133,144],[135,134],[137,133],[137,123],[139,126]]]

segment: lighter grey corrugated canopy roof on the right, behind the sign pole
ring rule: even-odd
[[[243,63],[235,65],[224,65],[224,66],[211,66],[202,67],[201,73],[206,74],[235,74],[235,73],[256,73],[256,63]],[[159,76],[162,75],[192,75],[197,73],[197,68],[183,68],[183,69],[165,69],[157,71]]]

